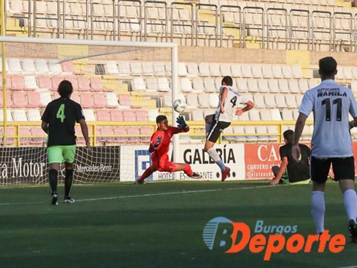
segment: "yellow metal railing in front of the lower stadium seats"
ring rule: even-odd
[[[277,132],[276,133],[257,133],[257,134],[222,134],[218,143],[222,142],[222,136],[277,136],[276,141],[282,142],[283,136],[283,126],[286,125],[295,125],[295,121],[234,121],[232,122],[230,127],[235,126],[276,126]],[[307,121],[306,125],[312,125],[312,121]],[[152,132],[156,129],[155,122],[140,122],[140,121],[126,121],[126,122],[87,122],[89,128],[89,138],[91,140],[91,144],[93,146],[97,145],[97,138],[98,137],[150,137],[151,134],[116,134],[116,135],[104,135],[97,133],[98,127],[151,127]],[[205,137],[205,132],[202,130],[205,127],[204,122],[198,121],[187,121],[187,125],[190,127],[189,133],[182,133],[182,136],[191,136],[191,137]],[[21,146],[21,138],[46,138],[47,135],[44,133],[43,135],[20,135],[19,128],[20,127],[40,127],[40,122],[7,122],[6,127],[14,127],[15,133],[14,135],[6,135],[6,139],[14,139],[14,146]],[[0,127],[3,127],[3,122],[0,122]],[[197,132],[199,130],[199,132]],[[202,131],[201,131],[202,130]],[[303,135],[309,135],[310,133],[303,133]],[[83,137],[81,134],[77,134],[78,137]],[[2,139],[3,136],[0,134],[0,138]]]

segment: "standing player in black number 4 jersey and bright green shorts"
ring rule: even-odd
[[[61,81],[58,87],[60,98],[53,100],[47,105],[41,119],[41,127],[48,134],[49,181],[53,205],[58,205],[57,182],[60,163],[62,162],[64,162],[65,166],[65,193],[63,202],[74,202],[74,199],[70,197],[70,190],[73,181],[73,162],[76,152],[76,136],[74,132],[76,122],[80,124],[87,148],[91,150],[88,127],[82,108],[80,104],[70,99],[72,91],[73,87],[69,81]]]

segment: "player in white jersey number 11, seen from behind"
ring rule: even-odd
[[[354,190],[355,160],[352,152],[350,128],[357,126],[357,102],[350,88],[337,84],[337,63],[326,57],[319,61],[321,84],[306,91],[295,126],[292,153],[300,155],[298,140],[305,120],[313,111],[314,131],[311,146],[312,217],[316,233],[324,230],[324,190],[330,165],[344,195],[349,218],[348,229],[353,242],[357,238],[357,196]],[[354,121],[349,123],[349,113]],[[297,160],[298,161],[298,160]]]

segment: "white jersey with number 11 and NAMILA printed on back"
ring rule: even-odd
[[[312,156],[320,158],[353,156],[349,113],[357,117],[357,102],[352,90],[332,79],[306,91],[299,112],[313,111]]]

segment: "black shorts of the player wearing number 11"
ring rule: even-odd
[[[335,180],[355,180],[355,157],[317,158],[311,156],[311,180],[324,183],[332,164]]]

